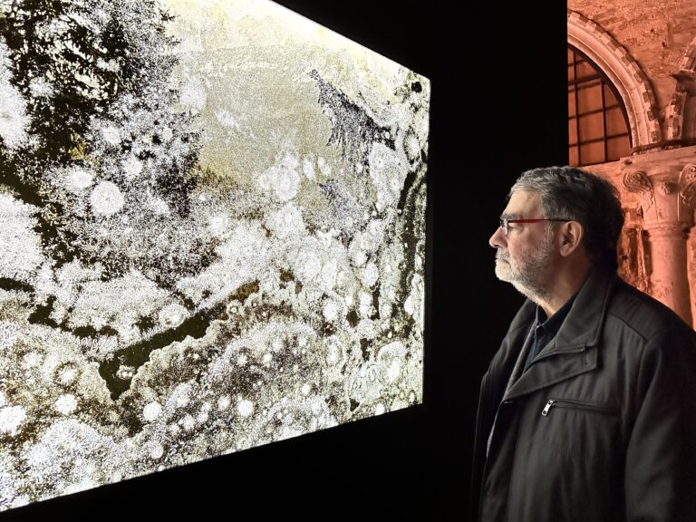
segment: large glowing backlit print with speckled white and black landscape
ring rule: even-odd
[[[0,511],[420,403],[429,102],[266,0],[0,0]]]

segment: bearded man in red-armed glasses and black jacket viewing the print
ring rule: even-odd
[[[622,226],[580,169],[510,190],[489,242],[527,301],[481,384],[482,522],[696,521],[696,334],[616,275]]]

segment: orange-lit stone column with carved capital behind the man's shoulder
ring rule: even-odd
[[[686,241],[693,226],[696,163],[675,165],[650,156],[623,161],[623,189],[640,201],[650,247],[652,296],[692,324]]]

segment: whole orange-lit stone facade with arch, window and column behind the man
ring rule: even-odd
[[[568,2],[568,152],[609,179],[619,272],[696,317],[696,0]]]

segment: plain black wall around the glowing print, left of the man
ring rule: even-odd
[[[468,519],[478,385],[522,302],[487,242],[517,175],[567,161],[565,5],[279,3],[431,81],[423,404],[3,520]]]

